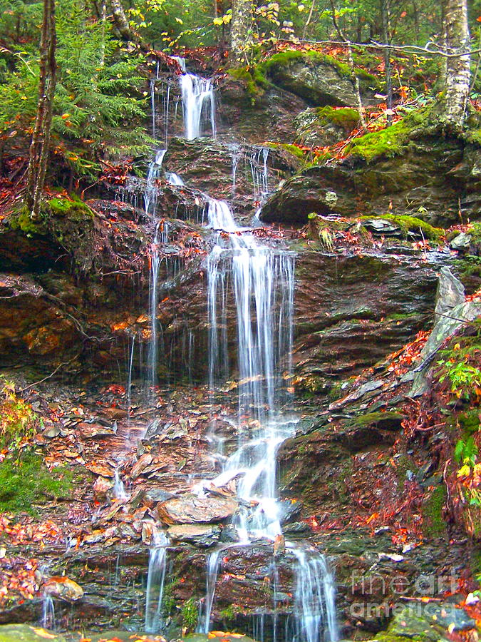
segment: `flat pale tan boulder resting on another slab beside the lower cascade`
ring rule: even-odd
[[[165,524],[211,524],[232,517],[238,508],[235,499],[187,494],[157,504],[157,514]]]

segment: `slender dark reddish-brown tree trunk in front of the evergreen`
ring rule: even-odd
[[[27,169],[26,203],[33,220],[37,220],[40,215],[43,184],[48,163],[53,96],[56,85],[55,49],[55,0],[43,0],[38,108],[30,146],[29,168]]]

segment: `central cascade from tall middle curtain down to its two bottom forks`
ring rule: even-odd
[[[256,506],[243,507],[232,521],[240,544],[246,545],[259,537],[274,540],[281,536],[276,454],[296,424],[279,411],[285,394],[282,373],[289,379],[291,371],[294,254],[260,244],[249,230],[237,226],[222,201],[210,201],[209,225],[222,232],[207,260],[210,384],[214,387],[219,376],[228,374],[226,328],[232,298],[237,324],[239,444],[227,458],[223,472],[195,490],[202,495],[207,484],[224,486],[231,479],[240,479],[237,496],[245,500],[244,506]],[[246,415],[255,419],[255,424],[244,432],[241,417]],[[323,635],[326,641],[336,641],[335,585],[326,560],[314,549],[308,553],[294,544],[287,547],[296,559],[292,638],[319,642]],[[200,630],[205,633],[210,630],[220,553],[225,548],[214,551],[207,562],[205,608],[200,618]],[[276,626],[273,630],[275,639]]]

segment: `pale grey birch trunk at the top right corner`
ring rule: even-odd
[[[470,31],[467,26],[466,0],[445,0],[445,38],[448,54],[467,54],[446,58],[445,121],[462,126],[470,93]]]

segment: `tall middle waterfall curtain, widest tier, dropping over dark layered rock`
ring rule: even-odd
[[[272,418],[284,389],[281,366],[290,367],[294,253],[258,243],[252,233],[237,226],[224,201],[211,199],[208,216],[211,228],[230,233],[227,242],[218,235],[207,259],[210,385],[227,374],[224,330],[232,298],[237,311],[239,414],[251,413],[259,421],[266,413]],[[234,291],[229,297],[231,280]]]

